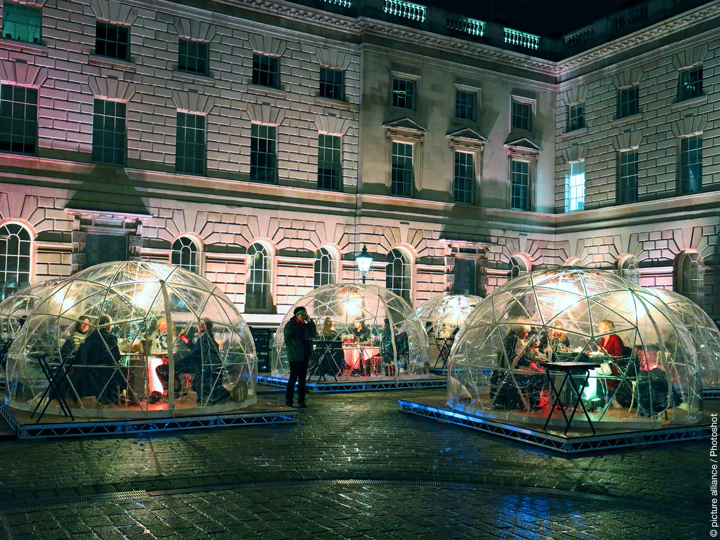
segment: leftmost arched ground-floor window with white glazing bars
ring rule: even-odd
[[[30,285],[30,232],[17,223],[0,227],[0,300]]]

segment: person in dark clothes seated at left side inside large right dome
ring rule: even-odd
[[[496,369],[490,377],[490,397],[496,407],[523,408],[520,389],[526,391],[526,399],[531,408],[539,407],[544,378],[541,375],[542,369],[526,356],[530,352],[530,346],[539,346],[539,340],[528,341],[530,330],[530,325],[514,324],[510,326],[508,336],[505,336],[503,351],[498,353],[498,366],[504,369]],[[517,387],[510,372],[515,372]]]

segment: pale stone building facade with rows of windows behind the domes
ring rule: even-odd
[[[306,4],[5,0],[3,294],[173,261],[271,328],[366,245],[414,305],[580,264],[720,320],[719,1],[559,38]]]

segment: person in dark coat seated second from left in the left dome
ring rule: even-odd
[[[71,382],[78,397],[95,396],[103,405],[117,403],[120,390],[127,386],[120,372],[120,348],[112,334],[112,318],[103,314],[97,328],[85,338],[75,354],[78,371]]]

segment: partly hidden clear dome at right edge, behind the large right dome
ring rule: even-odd
[[[720,332],[713,320],[702,307],[679,292],[652,288],[647,290],[665,302],[690,331],[698,355],[703,388],[720,387]]]

